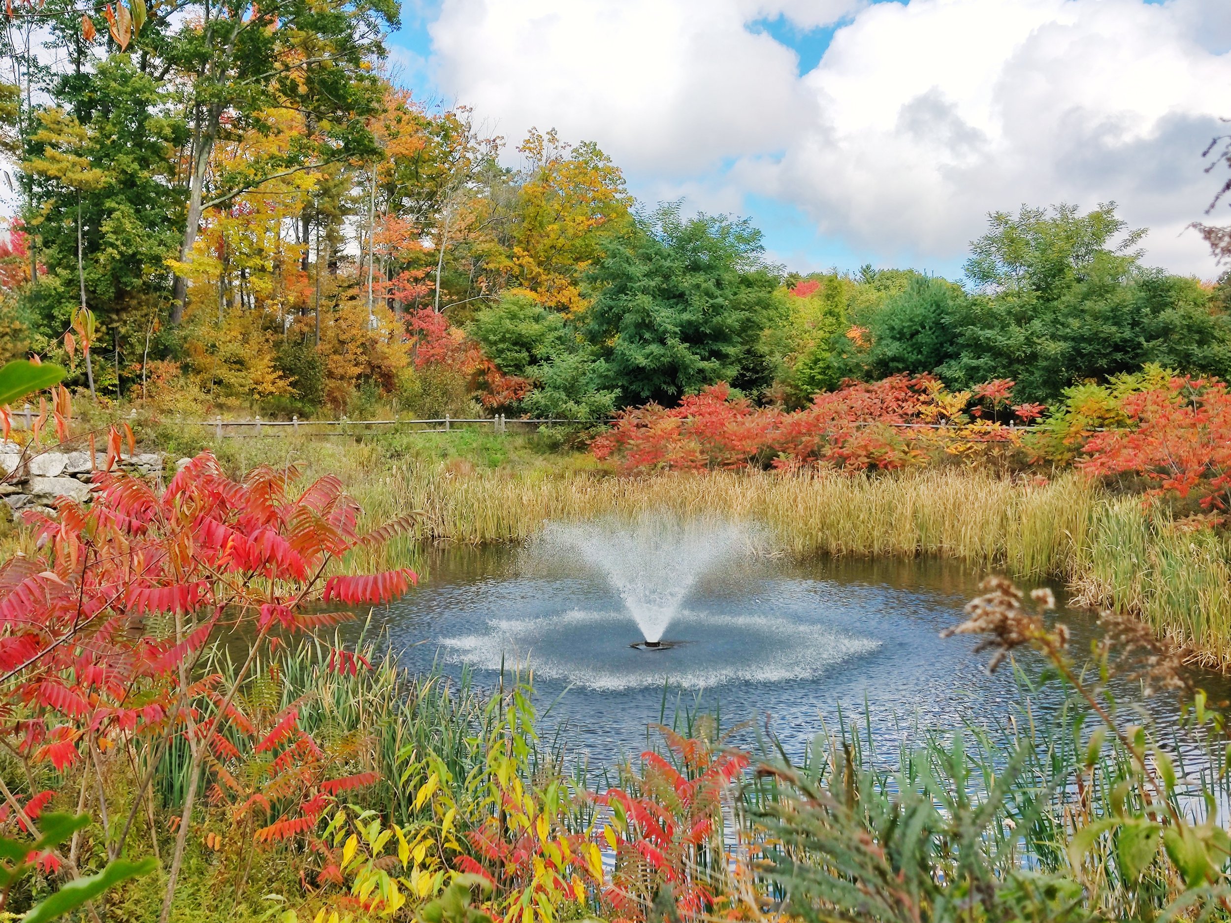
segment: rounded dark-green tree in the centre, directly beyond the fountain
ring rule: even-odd
[[[675,404],[707,384],[768,384],[761,331],[778,287],[761,233],[746,220],[664,206],[613,239],[590,273],[583,332],[595,384],[620,406]]]

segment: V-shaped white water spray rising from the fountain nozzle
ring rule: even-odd
[[[662,635],[697,580],[748,554],[756,539],[755,530],[725,519],[661,514],[553,524],[543,535],[548,549],[571,551],[607,577],[641,629],[644,641],[633,645],[641,650],[670,647]]]

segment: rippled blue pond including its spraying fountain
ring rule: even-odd
[[[374,618],[414,669],[491,685],[528,665],[550,706],[540,732],[591,762],[644,749],[650,724],[689,709],[768,726],[793,754],[841,713],[894,753],[913,727],[993,722],[1017,701],[1008,665],[988,676],[976,639],[939,637],[982,576],[940,560],[792,560],[730,523],[556,525],[527,546],[431,550],[421,586]],[[1088,650],[1093,614],[1059,617]],[[1222,677],[1198,682],[1227,698]]]

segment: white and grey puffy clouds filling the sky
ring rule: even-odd
[[[820,64],[751,26],[838,25]],[[444,0],[442,87],[510,138],[599,143],[655,191],[768,196],[869,255],[953,258],[991,209],[1117,201],[1152,262],[1231,116],[1226,0]],[[708,206],[709,202],[705,202]]]

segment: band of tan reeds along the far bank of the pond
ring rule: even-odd
[[[579,457],[475,464],[448,438],[394,453],[379,442],[233,441],[236,470],[298,463],[337,474],[373,524],[422,511],[414,532],[363,566],[416,562],[422,541],[521,541],[549,519],[648,511],[755,519],[810,555],[937,556],[1022,578],[1061,580],[1080,602],[1134,613],[1195,661],[1231,666],[1231,544],[1185,532],[1139,496],[1078,474],[1046,482],[968,468],[889,475],[767,471],[618,477]]]

